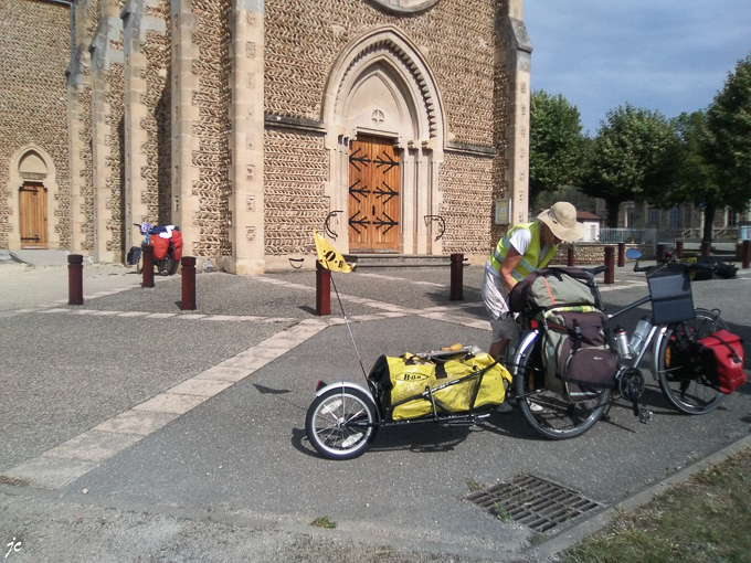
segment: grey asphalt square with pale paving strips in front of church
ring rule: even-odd
[[[334,315],[315,315],[313,272],[200,274],[191,312],[179,276],[142,289],[126,268],[84,272],[84,306],[68,307],[65,268],[0,264],[0,541],[23,541],[9,561],[523,560],[578,521],[540,535],[468,502],[472,487],[532,475],[604,510],[751,424],[750,385],[691,417],[648,378],[648,425],[620,401],[583,436],[549,442],[515,410],[473,428],[382,428],[362,457],[329,461],[307,443],[305,411],[319,380],[363,375],[334,291]],[[447,268],[335,274],[366,370],[383,353],[487,349],[480,278],[465,268],[464,301],[451,302]],[[612,311],[646,291],[643,274],[618,268],[603,298]],[[748,272],[694,285],[695,305],[722,310],[747,358],[750,294]],[[144,406],[176,396],[187,402]],[[124,415],[150,426],[113,432]],[[104,440],[96,455],[92,436]],[[309,525],[321,517],[336,530]]]

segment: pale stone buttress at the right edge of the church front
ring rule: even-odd
[[[512,201],[511,225],[527,221],[529,208],[529,100],[532,43],[522,20],[522,0],[508,0],[499,14],[499,34],[506,43],[508,85],[508,146],[506,180]]]

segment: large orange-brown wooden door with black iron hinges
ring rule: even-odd
[[[359,136],[349,151],[349,249],[399,249],[399,156],[393,141]]]

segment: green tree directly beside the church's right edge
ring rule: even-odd
[[[582,164],[581,116],[561,96],[532,92],[529,111],[529,201],[577,180]],[[533,205],[532,205],[533,206]]]

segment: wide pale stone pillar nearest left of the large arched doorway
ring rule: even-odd
[[[233,0],[230,272],[263,274],[264,261],[264,0]]]

